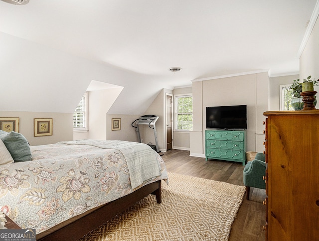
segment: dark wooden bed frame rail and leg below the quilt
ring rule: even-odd
[[[90,231],[98,228],[107,221],[114,218],[116,215],[127,210],[136,202],[145,198],[149,194],[156,195],[157,203],[161,203],[161,180],[150,183],[135,192],[119,198],[115,201],[102,205],[95,209],[95,211],[73,221],[72,223],[55,230],[54,232],[45,236],[41,234],[36,235],[37,241],[76,241],[88,234]],[[17,229],[14,223],[10,220],[8,222],[8,229]],[[15,226],[14,226],[15,225]],[[42,237],[41,237],[42,235]]]

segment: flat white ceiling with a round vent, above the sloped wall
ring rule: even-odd
[[[0,31],[169,84],[299,72],[317,0],[0,1]],[[170,67],[181,67],[176,73]]]

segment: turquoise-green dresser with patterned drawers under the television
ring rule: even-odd
[[[206,161],[217,159],[246,163],[246,131],[205,131]]]

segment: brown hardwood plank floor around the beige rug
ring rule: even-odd
[[[190,157],[189,151],[169,150],[163,153],[168,172],[244,185],[242,163],[208,160],[200,157]],[[250,200],[244,197],[237,217],[232,225],[229,241],[264,241],[265,232],[262,230],[266,222],[265,190],[251,188]]]

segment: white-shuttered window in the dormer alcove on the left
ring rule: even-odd
[[[85,93],[80,103],[77,105],[73,113],[73,130],[74,131],[87,131],[88,130],[88,94]]]

